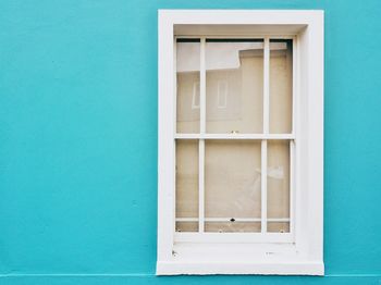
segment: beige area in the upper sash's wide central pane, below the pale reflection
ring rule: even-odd
[[[262,51],[242,55],[241,67],[207,72],[207,133],[261,133],[263,125]],[[218,106],[218,84],[228,84],[226,108]]]

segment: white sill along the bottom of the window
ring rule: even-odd
[[[172,260],[158,261],[157,275],[180,274],[323,275],[324,264],[295,244],[177,243]]]

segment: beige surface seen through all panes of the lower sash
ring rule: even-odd
[[[207,140],[206,218],[260,218],[260,142]],[[176,144],[176,218],[198,218],[198,141]],[[290,218],[290,141],[268,141],[268,218]],[[195,222],[176,223],[197,232]],[[269,232],[288,232],[288,222],[269,222]],[[206,232],[260,232],[260,223],[207,222]]]

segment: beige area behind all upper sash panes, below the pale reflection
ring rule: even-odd
[[[207,71],[207,133],[262,132],[262,54],[261,50],[239,52],[239,69]],[[292,132],[292,65],[288,42],[286,50],[270,51],[270,133]],[[220,82],[228,86],[225,108],[218,104]],[[199,72],[177,73],[177,133],[199,132],[199,108],[193,106],[197,83]]]

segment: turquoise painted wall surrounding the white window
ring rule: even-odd
[[[327,276],[155,276],[158,9],[325,11]],[[0,1],[0,284],[381,284],[380,62],[379,0]]]

